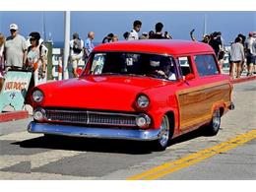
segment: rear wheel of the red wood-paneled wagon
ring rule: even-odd
[[[217,135],[221,127],[221,110],[216,109],[213,114],[211,123],[206,127],[207,135]]]

